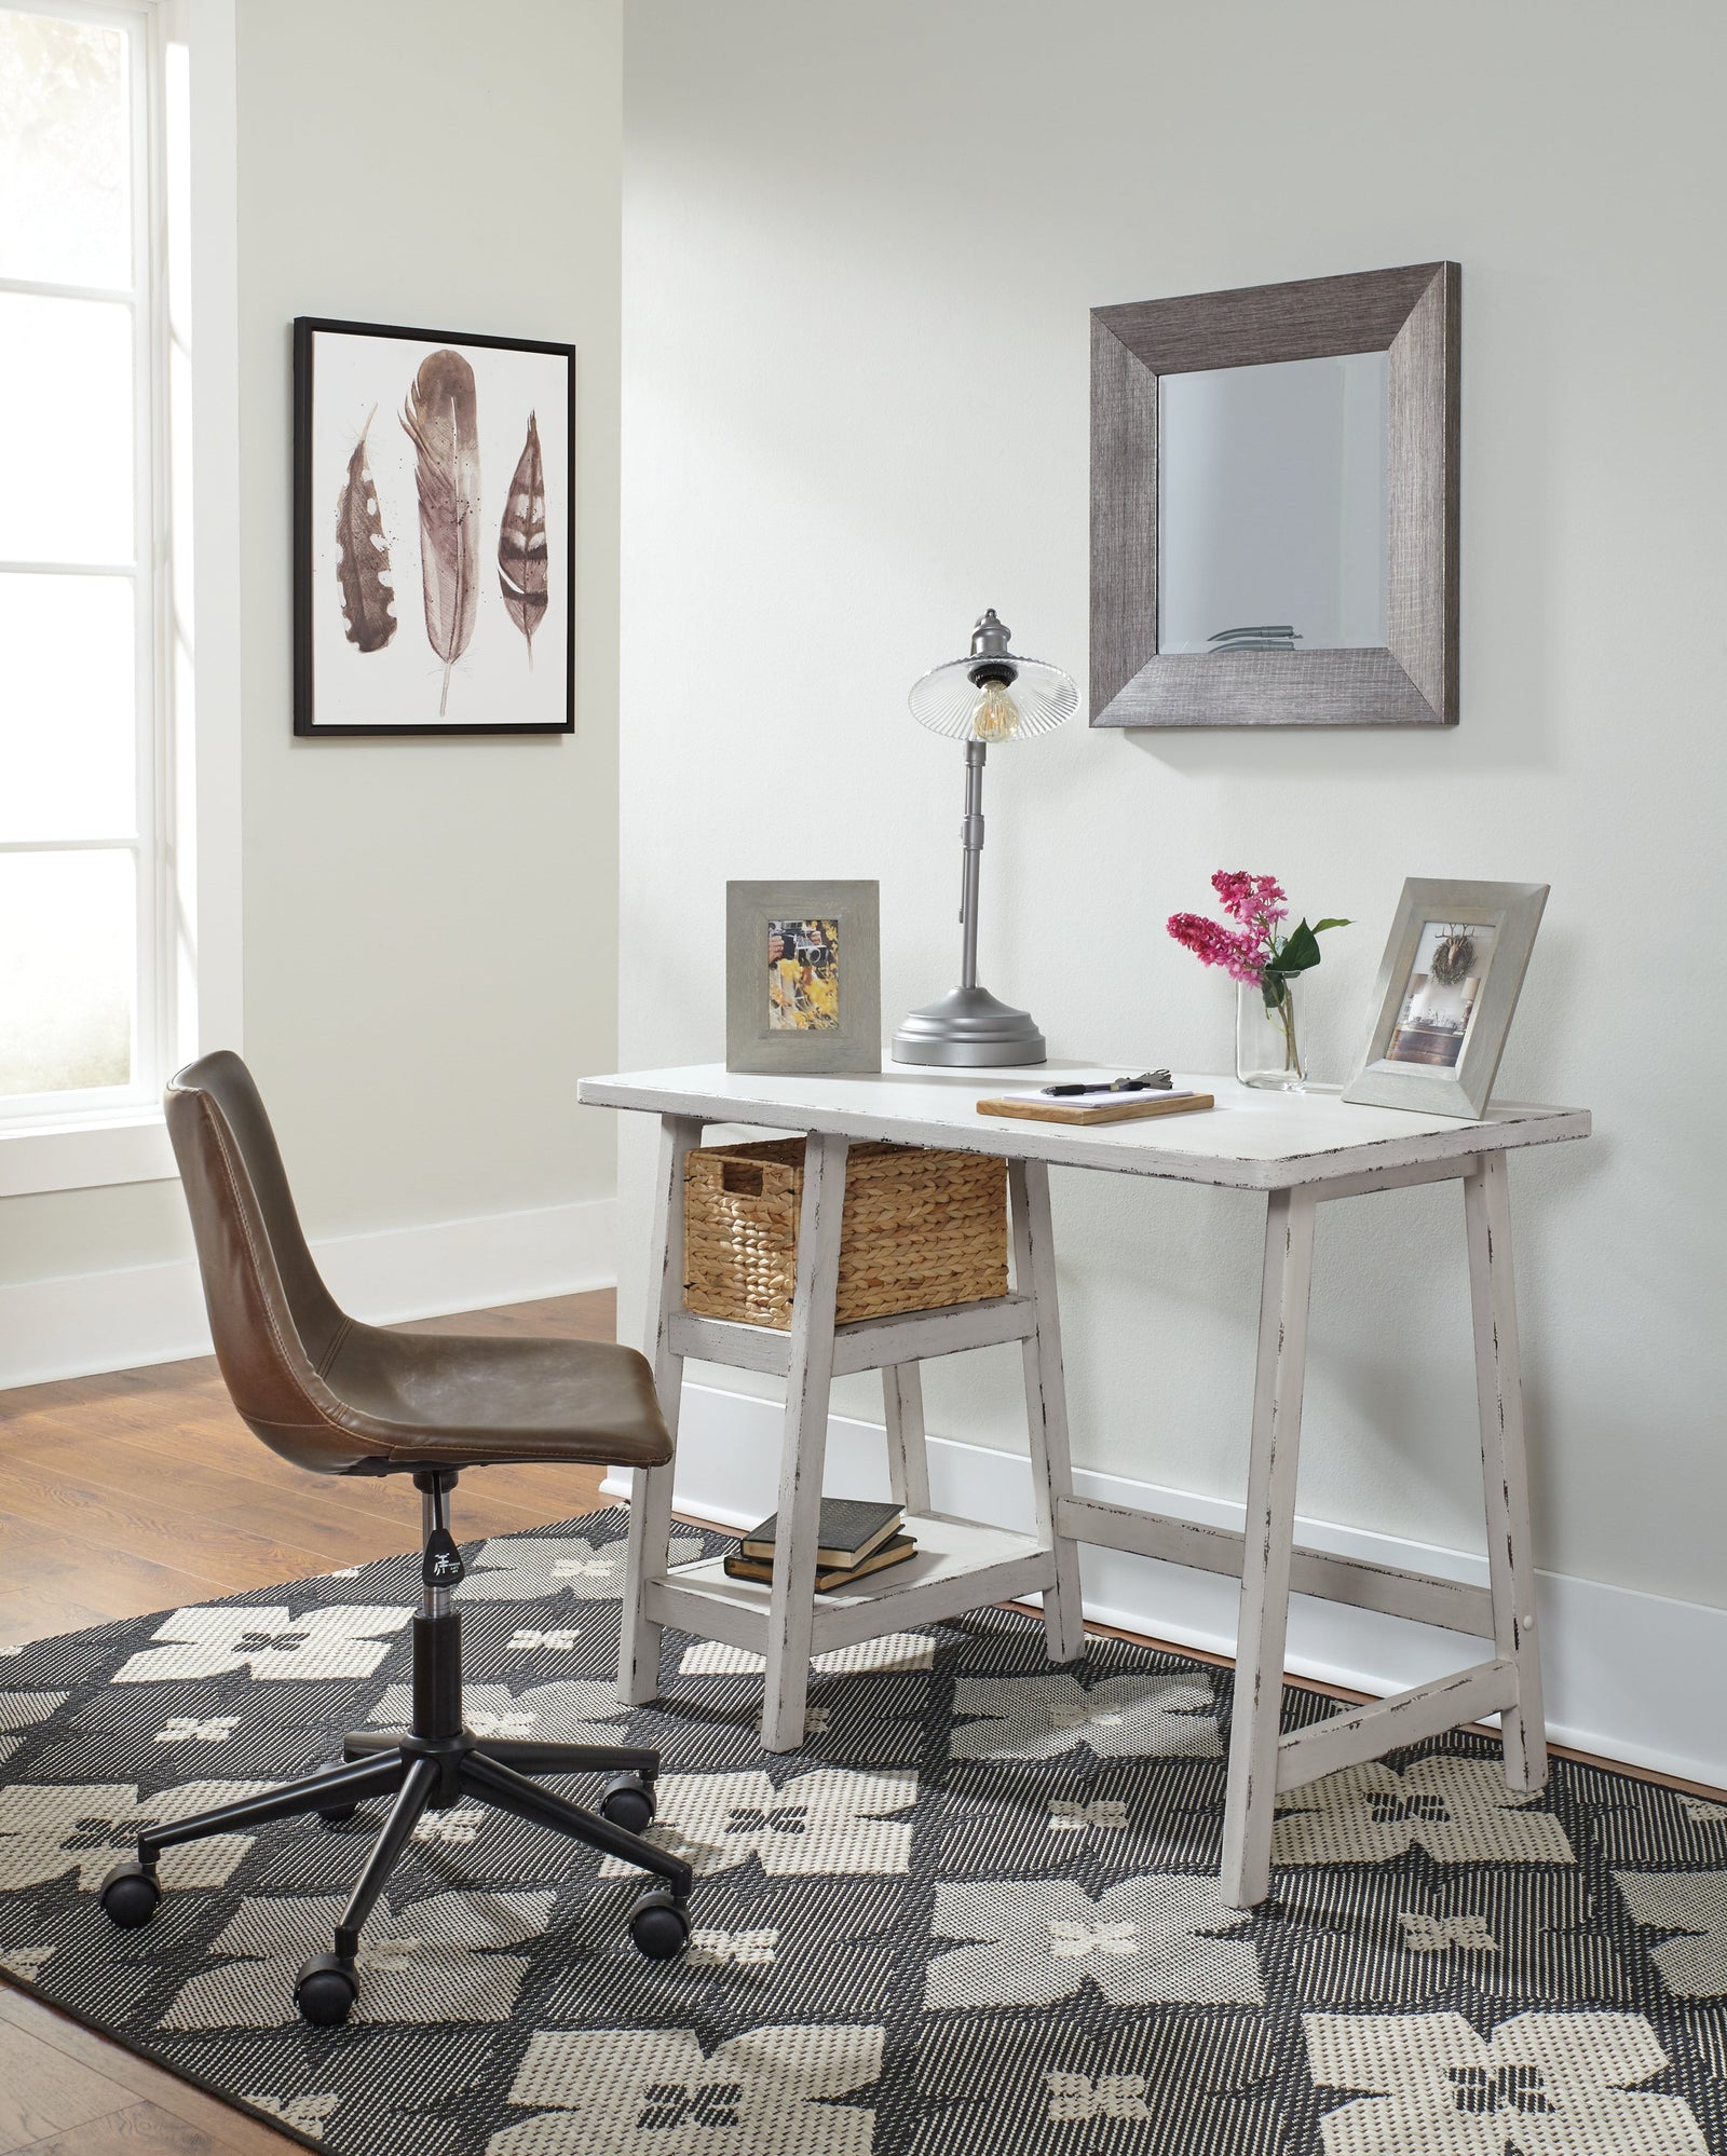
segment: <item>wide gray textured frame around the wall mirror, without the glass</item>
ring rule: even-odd
[[[1091,724],[1457,724],[1457,263],[1091,310]],[[1158,651],[1158,377],[1391,356],[1386,642]]]

